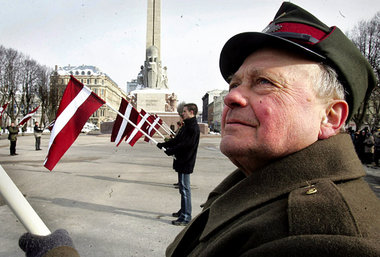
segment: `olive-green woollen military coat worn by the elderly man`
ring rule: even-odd
[[[237,170],[209,195],[167,256],[380,256],[380,202],[348,135]]]

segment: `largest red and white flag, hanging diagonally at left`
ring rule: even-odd
[[[50,171],[74,143],[88,118],[105,102],[71,76],[51,131],[44,166]]]

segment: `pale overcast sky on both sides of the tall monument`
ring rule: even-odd
[[[161,59],[179,101],[227,89],[219,53],[233,35],[262,31],[280,0],[162,0]],[[343,32],[380,11],[378,0],[293,0]],[[146,0],[0,0],[0,44],[42,65],[93,65],[121,88],[145,60]]]

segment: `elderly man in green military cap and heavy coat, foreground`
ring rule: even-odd
[[[220,69],[220,149],[238,169],[166,255],[380,256],[379,200],[340,133],[376,83],[357,48],[285,2],[225,44]]]

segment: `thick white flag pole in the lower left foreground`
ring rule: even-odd
[[[40,236],[51,234],[45,223],[33,210],[32,206],[28,203],[1,165],[0,194],[28,232]]]

